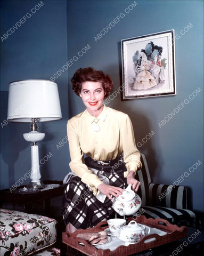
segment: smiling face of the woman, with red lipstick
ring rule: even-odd
[[[80,97],[86,106],[88,113],[99,116],[103,110],[103,99],[105,91],[101,82],[84,82],[81,85]]]

